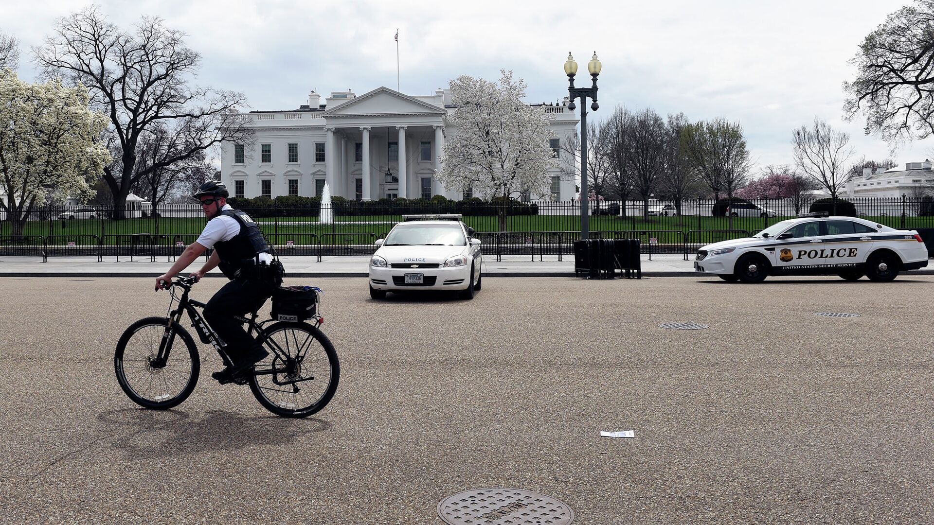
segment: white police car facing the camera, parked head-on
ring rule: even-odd
[[[482,286],[483,255],[474,229],[458,214],[403,215],[370,259],[370,297],[387,291],[456,290],[473,299]]]

